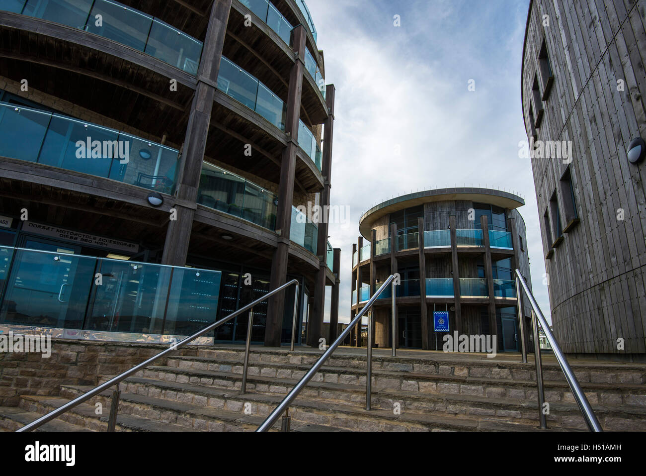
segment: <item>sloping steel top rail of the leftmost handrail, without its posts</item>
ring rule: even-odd
[[[169,354],[170,352],[176,351],[180,347],[183,347],[188,343],[192,342],[193,340],[195,340],[196,338],[203,336],[203,334],[206,334],[207,332],[210,332],[211,330],[216,329],[217,327],[220,327],[220,325],[224,324],[227,321],[230,321],[231,319],[242,314],[243,312],[246,312],[249,309],[253,309],[256,304],[262,303],[262,301],[265,301],[267,298],[273,296],[278,292],[281,292],[285,288],[290,287],[291,285],[294,285],[294,284],[298,284],[298,281],[296,279],[292,279],[291,281],[289,281],[289,283],[285,283],[284,285],[277,287],[275,290],[268,292],[264,296],[258,297],[258,299],[253,301],[253,303],[249,303],[245,307],[242,307],[236,310],[235,312],[232,312],[231,314],[229,314],[229,316],[226,316],[225,318],[222,318],[219,321],[214,322],[213,324],[207,325],[207,327],[205,327],[202,330],[198,330],[198,332],[195,332],[195,334],[193,334],[192,336],[188,336],[187,338],[183,339],[179,343],[171,345],[171,347],[169,347],[165,351],[161,351],[159,354],[152,356],[148,360],[145,360],[144,362],[141,362],[140,364],[135,365],[134,367],[132,367],[131,369],[123,373],[120,373],[119,375],[117,375],[114,378],[111,378],[104,384],[94,387],[94,389],[84,393],[81,396],[74,398],[74,400],[67,402],[67,404],[58,407],[56,410],[50,411],[49,413],[47,413],[47,415],[41,416],[37,420],[34,420],[30,424],[27,424],[22,428],[17,429],[16,431],[31,431],[32,429],[42,426],[43,424],[47,423],[50,420],[54,420],[54,418],[56,418],[59,415],[63,415],[63,413],[65,413],[69,409],[74,408],[78,404],[82,404],[83,402],[85,402],[86,400],[89,400],[93,396],[99,395],[99,393],[109,389],[110,387],[112,387],[112,385],[119,384],[121,380],[123,380],[124,378],[128,378],[130,375],[137,373],[141,369],[145,369],[145,367],[148,367],[149,365],[151,365],[151,363],[155,362],[158,358],[161,358],[166,354]]]

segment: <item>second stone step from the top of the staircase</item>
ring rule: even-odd
[[[232,371],[234,367],[231,367]],[[236,371],[238,369],[236,368]],[[329,369],[328,369],[329,370]],[[286,393],[284,380],[293,380],[289,387],[302,378],[304,372],[287,371],[257,375],[259,369],[249,367],[247,385],[249,389],[266,393]],[[240,371],[242,372],[242,371]],[[280,372],[280,378],[278,374]],[[341,382],[345,385],[355,385],[365,388],[365,373],[355,373],[344,370],[345,373],[317,373],[310,384]],[[287,377],[291,375],[291,378]],[[242,374],[222,371],[194,370],[182,367],[149,367],[137,376],[154,378],[167,382],[180,382],[218,387],[240,389]],[[308,385],[309,387],[310,385]],[[545,401],[575,402],[574,396],[566,382],[544,382]],[[646,404],[645,385],[633,384],[581,384],[590,404],[625,404],[627,406],[643,406]],[[515,398],[518,400],[536,401],[536,382],[530,380],[509,380],[500,382],[495,378],[472,378],[468,376],[448,376],[435,374],[397,373],[390,371],[373,372],[373,391],[419,391],[421,393],[447,393],[464,395],[481,395],[492,398]],[[308,392],[304,389],[303,392]]]

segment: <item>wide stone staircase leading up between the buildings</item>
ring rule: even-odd
[[[410,354],[410,352],[408,352]],[[321,352],[253,348],[241,395],[244,349],[189,348],[121,384],[118,431],[253,431],[304,376]],[[533,363],[419,352],[373,357],[372,410],[365,410],[366,356],[340,348],[290,406],[293,431],[537,430]],[[382,354],[382,355],[380,355]],[[546,359],[548,360],[548,359]],[[571,362],[601,426],[646,431],[646,365]],[[587,426],[556,363],[543,364],[552,431]],[[104,379],[103,381],[105,382]],[[60,386],[58,396],[21,395],[0,407],[0,429],[15,430],[88,391]],[[111,391],[41,431],[105,431]],[[98,406],[97,404],[101,404]],[[97,415],[102,407],[102,415]],[[280,420],[273,429],[280,429]],[[538,430],[537,430],[538,431]]]

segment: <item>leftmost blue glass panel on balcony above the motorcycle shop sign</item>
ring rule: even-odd
[[[36,162],[51,113],[0,104],[0,156]]]

